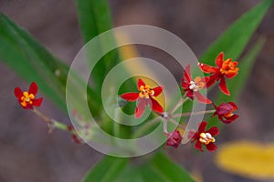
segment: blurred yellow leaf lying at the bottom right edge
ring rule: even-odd
[[[274,179],[274,143],[237,141],[216,153],[216,165],[241,177]]]

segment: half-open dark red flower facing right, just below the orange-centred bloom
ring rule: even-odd
[[[238,115],[233,114],[233,112],[237,110],[237,105],[234,102],[228,102],[227,104],[223,103],[220,106],[213,106],[216,108],[216,112],[213,116],[218,116],[219,120],[225,124],[235,121],[238,117]]]

